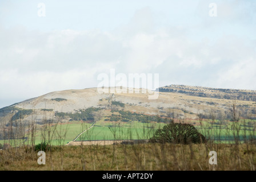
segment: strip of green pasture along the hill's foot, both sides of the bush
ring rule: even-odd
[[[132,122],[113,122],[104,121],[105,118],[95,123],[95,125],[77,138],[79,140],[124,140],[124,139],[150,139],[155,131],[162,128],[166,123],[151,122],[142,123]],[[217,142],[226,143],[234,139],[255,139],[255,120],[245,120],[238,123],[205,120],[191,121],[191,124],[197,124],[195,127],[206,138],[214,139]],[[34,143],[42,141],[50,142],[52,145],[65,145],[74,140],[83,130],[88,129],[93,123],[82,121],[71,121],[69,123],[57,123],[44,128],[37,128],[34,135],[26,135],[26,139],[0,140],[0,143],[10,143],[19,146],[22,143],[30,144],[31,138],[34,137]]]

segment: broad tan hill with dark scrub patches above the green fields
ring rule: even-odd
[[[38,124],[55,120],[93,121],[163,121],[166,118],[231,118],[235,104],[241,118],[256,118],[255,91],[212,89],[198,86],[170,85],[159,88],[157,100],[149,93],[99,93],[97,88],[63,90],[0,109],[0,121],[31,120]],[[229,96],[229,97],[227,97]],[[234,99],[231,99],[234,98]],[[237,98],[240,98],[238,100]]]

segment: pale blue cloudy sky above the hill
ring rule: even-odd
[[[212,4],[214,6],[212,6]],[[256,90],[256,1],[0,1],[0,108],[101,73]]]

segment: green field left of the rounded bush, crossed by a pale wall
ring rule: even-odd
[[[72,121],[65,124],[56,124],[38,129],[35,133],[35,144],[44,139],[53,145],[66,144],[88,129],[93,123]],[[78,140],[122,140],[122,139],[149,139],[155,131],[166,125],[165,123],[140,123],[133,122],[104,122],[98,121],[90,130],[83,133]],[[45,132],[43,132],[45,131]],[[27,137],[30,137],[28,134]]]

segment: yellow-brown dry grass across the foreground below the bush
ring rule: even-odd
[[[210,151],[217,165],[209,164]],[[54,146],[39,165],[37,151],[21,147],[0,151],[0,170],[255,170],[255,152],[252,143]]]

